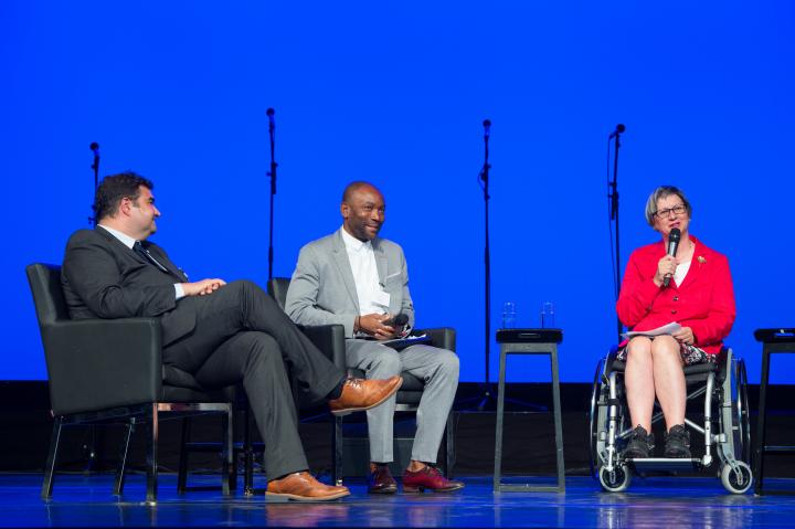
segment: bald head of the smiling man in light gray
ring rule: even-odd
[[[351,182],[342,192],[342,228],[360,241],[372,241],[384,223],[386,204],[370,182]]]

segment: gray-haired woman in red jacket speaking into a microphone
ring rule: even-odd
[[[635,336],[622,343],[618,358],[626,361],[627,404],[636,425],[626,457],[653,456],[655,394],[666,420],[665,457],[690,457],[682,366],[714,361],[734,322],[729,262],[690,235],[691,213],[681,190],[657,188],[646,202],[646,221],[662,241],[633,252],[624,274],[616,304],[624,325],[633,331],[650,331],[671,322],[681,326],[669,335]],[[681,239],[676,256],[670,256],[668,236],[675,228]]]

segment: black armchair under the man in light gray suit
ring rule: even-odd
[[[287,277],[274,277],[268,282],[268,294],[271,294],[279,307],[284,309],[287,299],[287,288],[289,288],[290,279]],[[364,372],[359,369],[349,369],[346,366],[344,352],[344,327],[341,325],[301,327],[304,332],[318,346],[318,348],[335,362],[335,366],[348,372],[351,377],[364,378]],[[455,351],[455,329],[438,328],[423,329],[420,332],[426,332],[431,337],[431,345],[434,347]],[[420,399],[422,398],[425,383],[409,372],[402,372],[401,378],[403,384],[396,395],[396,412],[416,412]],[[342,462],[344,455],[344,429],[343,417],[335,417],[332,451],[333,451],[333,482],[342,483]],[[413,438],[413,437],[412,437]],[[404,437],[394,437],[395,442],[410,441]],[[447,426],[445,430],[445,438],[443,440],[443,461],[444,472],[447,477],[453,475],[455,465],[455,423],[453,413],[447,415]]]

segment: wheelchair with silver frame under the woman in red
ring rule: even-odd
[[[745,362],[724,348],[716,362],[685,367],[688,417],[693,437],[692,458],[625,458],[622,453],[634,425],[630,423],[624,391],[625,364],[617,360],[617,348],[600,360],[591,395],[591,474],[605,490],[619,493],[629,487],[633,473],[687,472],[702,469],[720,462],[719,476],[723,487],[733,494],[745,493],[753,482],[751,472],[751,426],[748,404]],[[691,401],[703,398],[703,406]],[[691,417],[699,415],[697,420]],[[717,416],[717,424],[714,420]],[[659,403],[655,402],[651,423],[662,419]],[[697,422],[700,420],[700,422]]]

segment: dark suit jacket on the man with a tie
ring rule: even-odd
[[[170,273],[104,228],[80,230],[66,244],[61,283],[73,319],[158,317],[166,346],[193,330],[195,306],[176,299],[174,283],[188,277],[157,244],[142,244]]]

